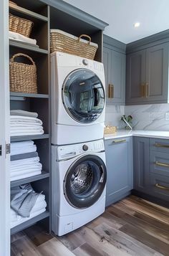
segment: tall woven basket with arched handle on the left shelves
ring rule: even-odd
[[[32,64],[14,62],[16,57],[26,57]],[[37,93],[37,67],[31,57],[18,53],[9,62],[9,79],[11,92]]]

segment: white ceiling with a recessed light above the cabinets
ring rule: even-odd
[[[110,24],[104,34],[125,44],[169,29],[168,0],[64,1]]]

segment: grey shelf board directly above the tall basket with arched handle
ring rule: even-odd
[[[21,49],[27,49],[29,51],[39,52],[39,53],[42,53],[42,54],[48,54],[47,49],[41,49],[41,48],[37,47],[34,44],[28,44],[26,42],[19,42],[19,41],[16,41],[14,39],[9,39],[9,46],[17,47],[17,48],[21,48]]]

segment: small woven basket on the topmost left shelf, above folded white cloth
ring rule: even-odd
[[[32,31],[33,22],[13,14],[9,14],[9,30],[29,37]]]

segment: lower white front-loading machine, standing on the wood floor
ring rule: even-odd
[[[52,231],[61,236],[105,212],[103,140],[52,146]]]

